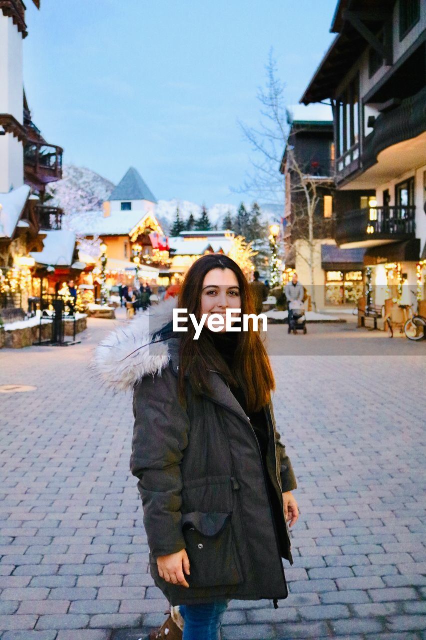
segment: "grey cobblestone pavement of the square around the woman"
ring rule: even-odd
[[[165,619],[129,472],[130,396],[87,366],[111,326],[91,320],[68,348],[0,352],[0,385],[36,387],[0,393],[1,640],[145,640]],[[268,335],[299,483],[290,595],[278,609],[233,600],[223,637],[424,639],[425,351],[404,341],[381,356],[383,338],[365,332],[352,343],[371,355],[346,355],[352,327],[286,330]]]

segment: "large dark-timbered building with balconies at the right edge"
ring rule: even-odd
[[[365,249],[375,304],[409,304],[425,298],[426,3],[340,0],[331,32],[301,102],[333,106],[336,243]]]

